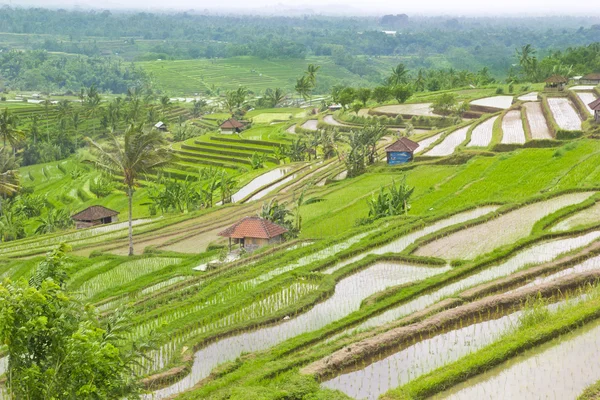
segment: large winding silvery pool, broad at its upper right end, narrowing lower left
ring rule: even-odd
[[[178,383],[148,395],[148,399],[163,399],[191,388],[207,377],[217,365],[234,360],[244,352],[264,350],[287,339],[320,329],[358,310],[370,295],[389,286],[425,279],[448,271],[449,268],[424,268],[397,263],[378,263],[341,280],[333,296],[296,318],[278,325],[225,338],[199,350],[194,356],[191,373]]]

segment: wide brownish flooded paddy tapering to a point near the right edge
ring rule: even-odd
[[[529,236],[537,221],[563,207],[581,203],[593,192],[571,193],[510,211],[420,247],[416,255],[446,260],[474,259]],[[485,238],[485,240],[483,240]]]

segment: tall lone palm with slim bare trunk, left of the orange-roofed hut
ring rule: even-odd
[[[108,172],[123,176],[129,202],[129,255],[133,255],[133,189],[143,174],[160,170],[172,160],[172,154],[164,146],[163,135],[155,130],[144,131],[142,124],[131,125],[123,140],[112,136],[103,146],[86,138],[96,153],[96,165]]]

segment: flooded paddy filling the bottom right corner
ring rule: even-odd
[[[600,322],[594,322],[442,393],[435,399],[576,399],[600,379]]]

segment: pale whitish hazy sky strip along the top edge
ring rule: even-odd
[[[585,2],[578,7],[564,0],[0,0],[0,4],[12,6],[45,6],[45,7],[91,7],[109,9],[179,9],[197,11],[229,10],[281,13],[283,10],[325,10],[340,14],[456,14],[456,15],[600,15],[600,3]],[[277,11],[279,10],[279,11]],[[330,12],[327,12],[330,13]]]

